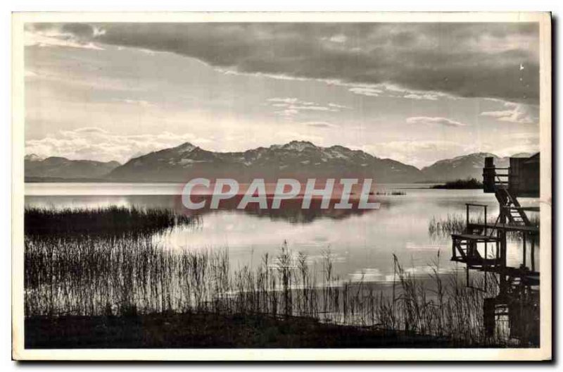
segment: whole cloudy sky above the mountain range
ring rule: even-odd
[[[539,148],[537,23],[27,23],[27,154]]]

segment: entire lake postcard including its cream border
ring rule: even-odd
[[[12,27],[15,359],[550,359],[550,13]]]

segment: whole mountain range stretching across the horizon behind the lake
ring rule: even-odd
[[[40,159],[25,157],[25,177],[96,178],[126,182],[185,182],[191,178],[235,178],[248,182],[253,178],[275,181],[279,178],[373,178],[379,183],[443,182],[482,177],[486,156],[495,164],[507,166],[509,158],[484,152],[437,161],[418,169],[392,159],[381,159],[364,151],[343,146],[320,147],[311,142],[292,141],[247,151],[215,152],[190,143],[153,151],[117,161],[69,160],[61,157]],[[531,154],[517,154],[524,157]]]

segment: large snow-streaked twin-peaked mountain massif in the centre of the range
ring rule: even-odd
[[[342,146],[320,147],[292,141],[239,152],[213,152],[184,143],[151,152],[115,168],[108,178],[127,181],[182,182],[191,178],[373,178],[375,182],[412,182],[420,171],[391,159]]]

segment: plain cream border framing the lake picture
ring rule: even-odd
[[[75,349],[23,347],[23,23],[25,22],[540,22],[542,225],[540,349]],[[17,13],[12,49],[13,358],[56,360],[543,360],[551,356],[551,39],[548,13]]]

